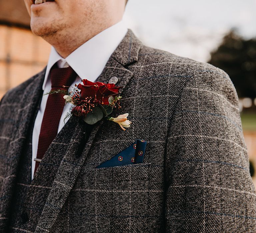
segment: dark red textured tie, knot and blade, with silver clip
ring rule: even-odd
[[[50,71],[52,83],[51,90],[68,90],[68,87],[75,81],[77,74],[71,67],[55,68]],[[37,159],[42,159],[46,150],[58,133],[60,117],[65,105],[64,93],[55,93],[48,96],[41,130],[38,140]],[[36,161],[34,174],[40,162]]]

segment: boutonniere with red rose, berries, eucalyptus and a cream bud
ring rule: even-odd
[[[120,88],[115,84],[93,83],[83,79],[80,84],[70,87],[67,95],[63,97],[67,103],[72,104],[67,116],[82,117],[88,124],[95,124],[105,117],[118,123],[123,130],[129,128],[132,122],[127,119],[128,113],[117,117],[109,116],[114,108],[121,108]]]

